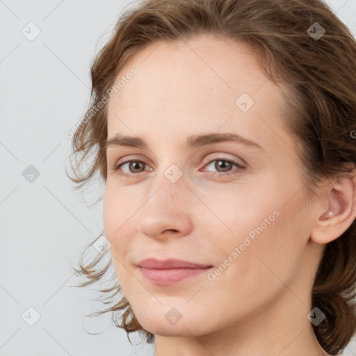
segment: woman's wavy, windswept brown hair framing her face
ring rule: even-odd
[[[315,22],[325,30],[321,38],[312,37],[313,33],[318,34]],[[356,134],[353,134],[356,133],[356,42],[347,26],[325,3],[321,0],[148,0],[120,16],[113,35],[92,63],[92,102],[72,140],[72,155],[81,156],[74,167],[72,164],[75,177],[70,179],[76,188],[90,181],[96,172],[106,181],[107,105],[98,109],[97,104],[104,102],[122,65],[146,44],[188,39],[201,33],[250,44],[266,76],[286,86],[286,128],[296,137],[303,179],[311,197],[316,196],[314,188],[321,179],[351,172],[356,164]],[[93,150],[94,160],[86,172],[80,172]],[[80,261],[76,274],[86,277],[87,282],[79,286],[102,280],[112,264],[110,260],[99,267],[103,256],[98,254],[86,264]],[[312,291],[312,307],[318,307],[326,316],[322,323],[313,325],[314,332],[330,355],[346,348],[355,333],[355,284],[354,220],[344,234],[326,245]],[[121,292],[118,280],[101,292],[105,299],[118,296]],[[113,293],[109,295],[110,292]],[[95,315],[106,312],[113,312],[113,323],[127,334],[139,331],[145,334],[148,343],[154,341],[154,334],[138,323],[124,296]],[[119,317],[115,312],[123,313]]]

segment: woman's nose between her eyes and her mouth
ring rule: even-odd
[[[193,228],[189,209],[191,194],[184,177],[172,183],[162,174],[152,184],[141,209],[138,231],[151,238],[188,235]]]

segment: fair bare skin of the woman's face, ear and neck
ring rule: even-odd
[[[115,271],[140,325],[156,336],[156,356],[327,355],[307,314],[325,244],[355,219],[355,181],[327,181],[320,199],[307,197],[282,92],[246,44],[209,35],[158,43],[129,58],[115,81],[138,70],[108,103],[108,138],[139,136],[148,147],[108,147],[104,196]],[[235,104],[243,92],[254,100],[246,112]],[[202,133],[238,133],[262,149],[185,146]],[[141,165],[114,171],[120,159]],[[224,159],[245,169],[221,168]],[[172,164],[182,174],[175,183],[164,175]],[[157,286],[136,266],[171,257],[216,270],[273,211],[279,216],[213,281],[203,273]],[[173,307],[175,325],[165,318]]]

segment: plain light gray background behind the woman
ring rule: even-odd
[[[70,265],[103,230],[102,202],[92,205],[103,187],[85,202],[72,191],[64,133],[88,105],[90,60],[131,3],[0,0],[0,356],[154,353],[135,345],[138,334],[131,346],[110,314],[87,318],[98,294],[71,287],[80,280]],[[328,3],[356,33],[356,0]],[[22,34],[29,22],[40,29],[32,41]],[[22,175],[29,165],[40,172],[33,182]],[[29,307],[40,314],[33,326]],[[356,355],[355,341],[343,355]]]

